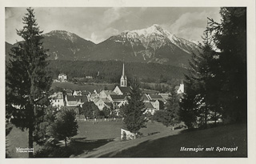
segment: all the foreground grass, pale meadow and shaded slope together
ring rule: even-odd
[[[79,134],[70,145],[75,149],[72,157],[246,157],[246,125],[219,126],[206,130],[170,130],[158,122],[147,122],[140,130],[142,138],[120,141],[122,122],[78,122]],[[152,135],[151,135],[152,134]],[[6,137],[6,154],[11,158],[27,158],[28,154],[17,154],[15,147],[27,147],[27,131],[13,127]],[[213,151],[180,151],[181,147],[214,147]],[[237,151],[218,152],[219,147],[236,147]],[[38,150],[34,145],[34,150]],[[69,156],[68,156],[69,157]]]

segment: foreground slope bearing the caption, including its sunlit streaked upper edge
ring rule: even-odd
[[[206,130],[170,130],[126,142],[114,141],[100,146],[88,154],[78,157],[103,158],[207,158],[247,157],[246,124],[219,126]],[[230,151],[216,151],[217,147],[236,148]],[[204,148],[202,151],[180,151],[181,147]],[[214,147],[213,151],[206,151]]]

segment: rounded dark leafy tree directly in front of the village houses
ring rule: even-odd
[[[98,110],[98,106],[96,106],[94,102],[85,102],[80,111],[80,114],[84,114],[85,118],[89,119],[98,118],[99,113],[100,110]]]

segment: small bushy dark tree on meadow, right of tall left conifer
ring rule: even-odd
[[[74,110],[62,109],[56,114],[56,120],[51,124],[50,136],[65,140],[78,134],[78,122]]]

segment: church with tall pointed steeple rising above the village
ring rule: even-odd
[[[122,76],[120,78],[120,86],[114,88],[114,93],[118,95],[130,94],[130,86],[127,86],[127,76],[125,74],[125,63],[122,64]]]

